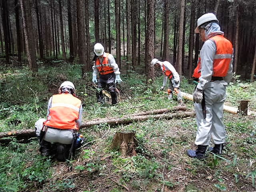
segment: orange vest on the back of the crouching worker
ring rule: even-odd
[[[76,120],[78,120],[81,100],[69,93],[62,93],[52,96],[50,113],[45,126],[57,129],[76,129]]]

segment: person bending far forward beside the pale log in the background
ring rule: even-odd
[[[171,91],[169,93],[168,98],[172,99],[172,92],[175,91],[177,94],[177,100],[179,102],[179,106],[185,107],[185,104],[182,101],[182,95],[180,93],[180,76],[178,72],[176,72],[174,66],[172,66],[172,64],[170,64],[170,62],[168,61],[162,62],[156,58],[152,59],[151,66],[157,67],[157,68],[160,67],[164,74],[163,85],[160,88],[160,90],[164,89],[164,87],[166,86],[167,79],[169,78],[170,80],[169,89]]]

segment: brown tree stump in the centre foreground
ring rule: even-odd
[[[123,157],[137,155],[135,131],[116,132],[112,141],[112,148],[120,150]]]

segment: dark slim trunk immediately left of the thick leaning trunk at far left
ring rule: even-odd
[[[16,23],[16,35],[17,35],[17,54],[18,62],[21,62],[21,33],[20,33],[20,13],[18,0],[14,1],[15,4],[15,23]]]

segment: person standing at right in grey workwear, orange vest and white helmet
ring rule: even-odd
[[[206,149],[212,138],[214,147],[208,150],[222,154],[226,132],[223,124],[223,107],[226,86],[232,78],[233,46],[224,38],[218,19],[213,13],[197,20],[195,33],[204,42],[193,77],[199,82],[193,93],[198,130],[197,150],[187,150],[190,157],[206,158]]]

